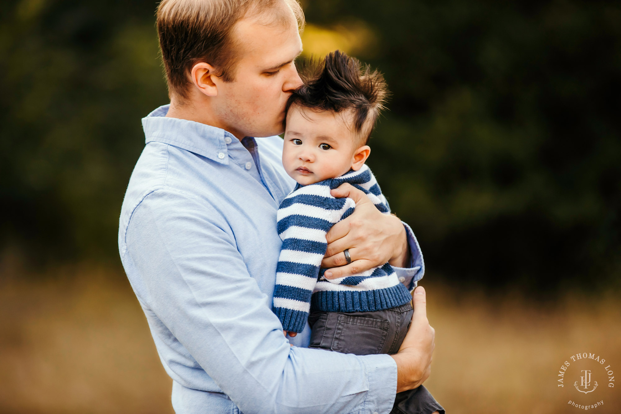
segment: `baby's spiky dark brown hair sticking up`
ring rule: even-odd
[[[353,129],[365,145],[388,96],[384,76],[339,50],[307,62],[301,75],[304,85],[289,97],[286,110],[292,106],[335,113],[350,109]]]

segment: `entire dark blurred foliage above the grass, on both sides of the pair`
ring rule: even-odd
[[[0,8],[5,257],[118,265],[120,205],[168,101],[155,1]],[[621,4],[308,0],[306,55],[392,91],[369,165],[428,272],[458,286],[619,287]]]

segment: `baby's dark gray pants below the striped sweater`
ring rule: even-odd
[[[372,312],[320,312],[309,315],[309,348],[327,349],[343,354],[396,354],[406,338],[412,321],[412,305]],[[444,408],[420,385],[399,392],[391,414],[444,414]]]

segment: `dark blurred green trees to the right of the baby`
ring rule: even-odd
[[[369,165],[430,270],[542,292],[618,283],[619,3],[325,0],[306,16],[376,34],[358,55],[392,101]]]

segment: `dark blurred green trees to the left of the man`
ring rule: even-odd
[[[167,101],[154,1],[43,1],[0,12],[2,237],[47,263],[117,261],[140,118]]]

